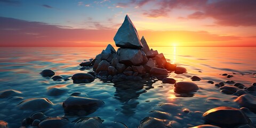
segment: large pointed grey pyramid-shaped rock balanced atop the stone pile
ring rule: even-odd
[[[126,15],[122,26],[118,29],[114,41],[117,47],[132,49],[142,48],[137,30],[128,15]]]

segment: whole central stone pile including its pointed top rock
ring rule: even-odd
[[[149,49],[146,39],[139,39],[136,28],[131,19],[126,15],[122,26],[115,37],[118,48],[108,44],[107,48],[98,54],[95,59],[83,62],[80,66],[93,66],[93,70],[99,76],[126,76],[168,75],[174,71],[176,65],[166,61],[164,54],[158,54],[157,50]]]

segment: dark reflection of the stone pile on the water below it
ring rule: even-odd
[[[153,86],[151,86],[152,84],[153,82],[149,79],[148,81],[125,80],[122,82],[116,82],[114,85],[116,87],[115,98],[123,103],[121,112],[127,116],[135,114],[136,107],[139,104],[139,102],[136,100],[140,94],[145,93],[147,90],[153,88]]]

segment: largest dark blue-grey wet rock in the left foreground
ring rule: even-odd
[[[98,99],[71,96],[63,102],[62,106],[64,108],[65,115],[79,116],[94,113],[94,111],[103,104],[104,102]]]

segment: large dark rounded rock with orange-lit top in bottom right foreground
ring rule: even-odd
[[[249,124],[249,118],[240,109],[232,107],[217,107],[204,113],[205,121],[218,126],[234,127],[240,124]]]

